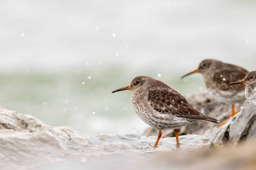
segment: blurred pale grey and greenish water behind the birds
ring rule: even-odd
[[[1,0],[0,106],[82,133],[141,134],[130,91],[139,75],[183,95],[205,58],[256,70],[253,0]]]

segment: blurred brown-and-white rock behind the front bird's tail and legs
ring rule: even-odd
[[[231,113],[231,105],[226,105],[216,99],[213,99],[207,91],[198,94],[188,94],[186,95],[186,99],[190,105],[204,115],[214,117],[220,122],[227,121],[229,119],[228,115]],[[180,128],[179,134],[207,135],[211,140],[219,129],[220,127],[215,123],[199,121],[192,125]],[[156,136],[157,130],[152,127],[148,127],[144,131],[143,135]],[[173,133],[173,130],[163,130],[163,136],[173,137],[175,134]]]

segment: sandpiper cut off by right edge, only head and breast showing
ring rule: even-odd
[[[244,79],[236,82],[232,82],[228,85],[244,84],[245,85],[245,96],[246,99],[253,93],[254,88],[256,88],[256,71],[250,71],[246,74]]]

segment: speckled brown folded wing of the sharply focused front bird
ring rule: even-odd
[[[195,110],[181,94],[172,88],[148,91],[148,102],[154,111],[158,113],[218,123],[217,119],[204,116]]]

